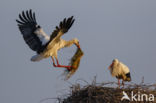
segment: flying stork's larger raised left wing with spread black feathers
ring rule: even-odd
[[[46,40],[47,35],[45,35],[43,30],[41,31],[42,28],[37,25],[35,13],[32,13],[32,10],[23,11],[19,14],[19,20],[16,21],[28,46],[37,53],[41,52],[44,47],[43,40]]]

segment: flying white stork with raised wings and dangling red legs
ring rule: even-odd
[[[61,48],[69,47],[73,44],[80,48],[79,40],[77,38],[69,41],[61,38],[64,33],[68,32],[74,23],[75,19],[73,19],[73,16],[67,19],[64,18],[59,26],[56,26],[50,37],[43,31],[42,27],[37,24],[35,13],[32,13],[31,9],[19,14],[19,20],[16,21],[26,44],[37,53],[32,56],[31,61],[40,61],[41,59],[51,57],[54,67],[65,67],[70,70],[70,66],[59,64],[57,52]],[[54,58],[56,59],[57,64],[55,64]]]

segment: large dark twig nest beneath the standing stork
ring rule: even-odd
[[[93,83],[87,84],[86,86],[80,86],[80,84],[73,85],[70,94],[58,98],[59,103],[156,103],[156,84],[145,85],[145,84],[127,84],[125,88],[116,88],[108,85],[116,84],[115,82],[108,83]],[[121,100],[123,97],[123,91],[131,96],[131,92],[134,94],[153,94],[155,97],[154,101],[132,101],[132,100]],[[138,98],[138,96],[136,97]]]

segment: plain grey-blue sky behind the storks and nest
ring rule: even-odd
[[[156,82],[155,0],[1,0],[0,103],[38,103],[69,86],[59,77],[63,69],[55,69],[51,59],[30,61],[35,52],[15,22],[28,9],[36,12],[48,34],[60,20],[74,15],[76,21],[63,38],[78,38],[84,57],[69,82],[79,78],[90,82],[95,75],[98,82],[116,81],[107,69],[114,58],[130,68],[133,82],[143,76],[146,83]],[[60,51],[60,62],[67,64],[74,51],[74,47]]]

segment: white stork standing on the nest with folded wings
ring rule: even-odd
[[[124,81],[131,81],[131,75],[129,68],[120,62],[118,59],[114,59],[109,66],[110,73],[113,77],[118,79],[118,85],[120,87],[120,79],[122,79],[122,85],[124,87]]]

